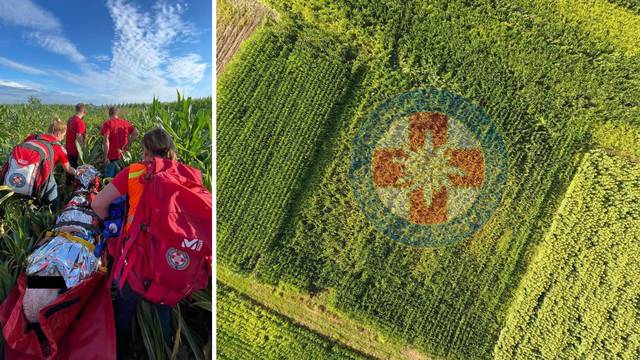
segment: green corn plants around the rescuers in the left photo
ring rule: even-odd
[[[211,188],[211,98],[183,98],[173,103],[131,104],[120,107],[120,117],[131,121],[141,136],[156,126],[163,126],[174,138],[181,161],[199,168],[205,183]],[[0,159],[6,160],[13,146],[27,135],[46,132],[53,116],[63,121],[74,114],[70,105],[41,105],[37,102],[23,105],[0,105]],[[108,118],[107,107],[89,106],[85,123],[87,124],[87,146],[83,150],[85,163],[104,167],[102,154],[102,136],[100,126]],[[131,161],[142,159],[140,141],[130,148]],[[123,166],[126,165],[124,162]],[[69,195],[70,189],[64,186],[64,176],[58,167],[59,193]],[[0,191],[0,199],[6,191]],[[29,201],[9,197],[0,206],[4,216],[0,230],[0,301],[13,288],[18,274],[22,271],[24,260],[33,250],[33,246],[51,228],[55,214],[46,209],[33,209]],[[173,311],[174,329],[180,334],[174,349],[165,350],[161,341],[159,323],[153,308],[143,305],[138,308],[134,337],[130,339],[130,348],[125,353],[134,359],[207,359],[211,358],[211,290],[194,294],[194,301],[185,301]],[[176,334],[178,335],[178,334]]]

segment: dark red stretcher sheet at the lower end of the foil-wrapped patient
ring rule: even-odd
[[[58,295],[40,310],[40,326],[24,316],[27,276],[0,306],[0,325],[7,360],[111,360],[116,359],[116,330],[110,282],[97,272],[78,286]]]

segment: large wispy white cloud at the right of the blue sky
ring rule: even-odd
[[[170,100],[176,88],[190,91],[202,80],[209,65],[199,55],[171,54],[171,45],[195,33],[182,19],[185,6],[161,0],[144,12],[126,0],[108,0],[107,9],[115,32],[109,69],[84,66],[79,74],[59,72],[60,77],[110,94],[110,102],[148,102],[153,96]]]

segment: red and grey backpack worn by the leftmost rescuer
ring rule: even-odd
[[[33,140],[17,145],[0,173],[4,185],[16,194],[43,198],[49,176],[54,169],[53,145],[59,142],[45,140],[37,134]]]

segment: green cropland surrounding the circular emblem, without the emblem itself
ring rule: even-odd
[[[336,308],[434,356],[492,357],[514,292],[581,154],[595,145],[636,151],[629,136],[607,131],[637,129],[640,121],[633,33],[617,28],[592,35],[608,19],[567,16],[566,8],[547,1],[269,3],[286,19],[249,40],[218,82],[219,260],[272,283],[310,292],[332,288]],[[637,20],[623,12],[620,21]],[[329,114],[323,131],[304,125],[306,117],[297,123],[269,108],[289,99],[288,111],[310,111],[306,104],[313,102],[298,99],[311,96],[314,83],[307,81],[303,91],[280,80],[287,72],[278,70],[288,64],[280,49],[299,46],[297,34],[307,31],[318,42],[347,46],[355,57],[350,65],[327,47],[311,51],[301,65],[351,66],[349,80],[341,80],[347,87],[340,106],[323,113]],[[277,91],[262,90],[270,86]],[[482,107],[509,157],[498,211],[474,236],[447,248],[413,248],[385,237],[365,219],[348,181],[352,141],[370,112],[385,99],[425,87]],[[324,90],[314,99],[332,106],[337,97],[329,103],[322,96],[338,91]],[[255,116],[273,120],[258,129],[251,125]],[[281,130],[283,123],[291,133]],[[321,134],[317,147],[319,135],[302,140],[312,130]],[[294,150],[300,142],[305,147]],[[271,151],[287,161],[283,155],[265,160]],[[298,151],[301,160],[288,158]],[[238,162],[254,168],[238,167],[234,177],[228,169]]]

